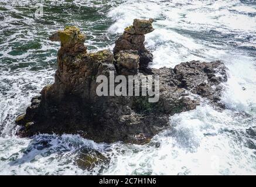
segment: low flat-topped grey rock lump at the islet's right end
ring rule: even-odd
[[[188,89],[214,103],[220,102],[222,91],[220,83],[227,81],[226,67],[220,61],[181,63],[176,65],[173,71],[180,88]],[[223,107],[221,104],[219,106]]]

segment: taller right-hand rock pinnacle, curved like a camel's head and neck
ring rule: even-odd
[[[145,34],[152,32],[153,19],[134,19],[133,25],[125,28],[124,33],[115,42],[114,55],[124,50],[138,51],[139,69],[146,70],[153,61],[153,55],[145,48]]]

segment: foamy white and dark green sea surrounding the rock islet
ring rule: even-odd
[[[256,173],[256,4],[254,1],[0,0],[0,174],[193,175]],[[12,1],[13,2],[13,1]],[[35,5],[43,16],[35,18]],[[134,18],[155,19],[146,35],[152,67],[221,60],[228,81],[220,112],[203,104],[170,117],[170,129],[144,146],[97,144],[78,135],[15,136],[15,116],[53,82],[59,43],[47,38],[76,25],[89,50],[114,47]],[[94,155],[93,167],[77,160]],[[82,155],[82,156],[81,156]],[[83,157],[84,155],[84,157]],[[79,166],[79,167],[78,167]]]

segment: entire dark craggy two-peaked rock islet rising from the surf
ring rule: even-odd
[[[169,127],[170,115],[200,105],[200,97],[223,108],[224,64],[190,61],[175,68],[149,68],[142,64],[145,56],[152,56],[145,49],[143,34],[152,30],[151,19],[135,19],[117,40],[114,54],[109,50],[87,53],[86,37],[76,27],[54,33],[50,39],[61,42],[54,84],[45,86],[26,113],[17,117],[16,123],[22,126],[18,134],[74,133],[97,142],[144,144]],[[110,71],[127,77],[159,75],[159,101],[149,103],[148,96],[98,96],[96,78],[109,77]]]

